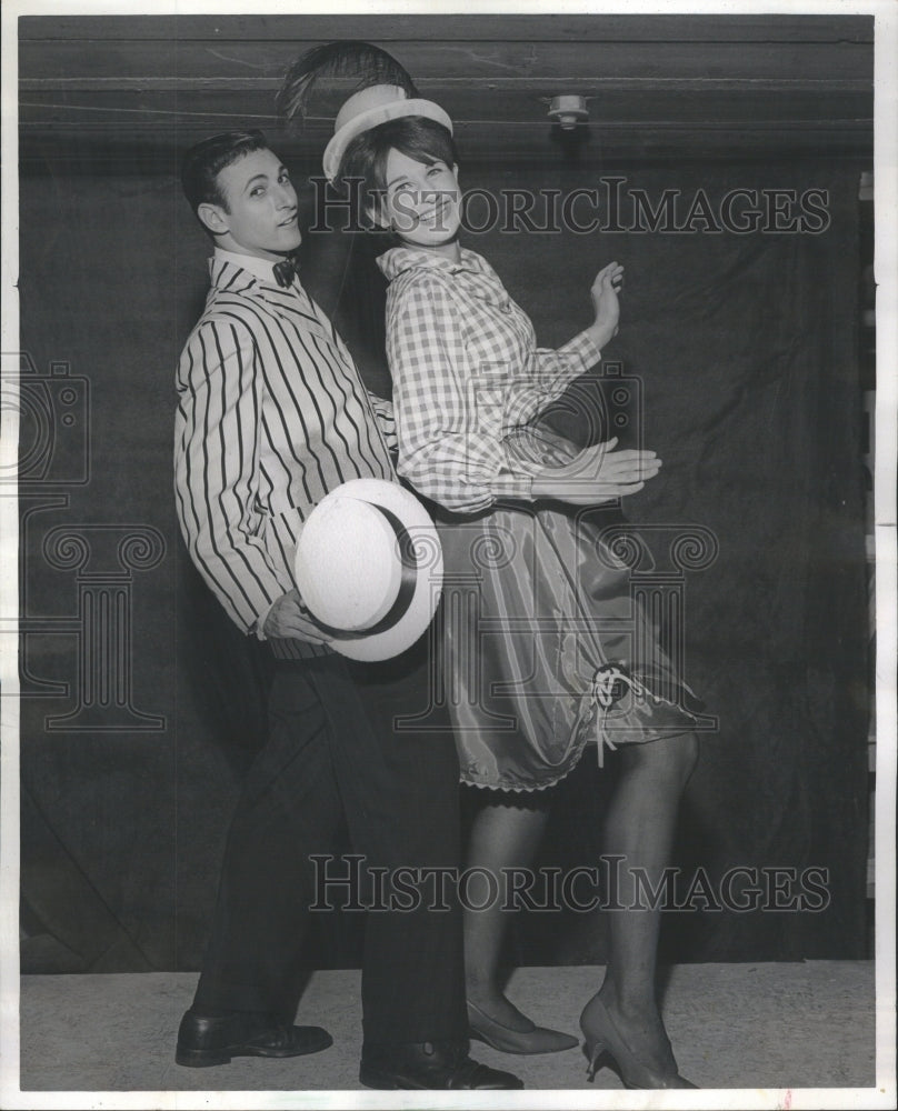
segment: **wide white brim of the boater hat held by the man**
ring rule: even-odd
[[[336,498],[353,498],[387,510],[400,522],[411,540],[411,550],[417,559],[418,569],[413,592],[402,615],[383,632],[340,635],[329,641],[335,652],[350,660],[367,662],[389,660],[411,648],[433,620],[442,589],[442,548],[439,536],[421,502],[397,482],[383,479],[351,479],[331,490],[319,506],[323,506],[328,499]],[[300,597],[303,575],[309,573],[308,568],[303,567],[301,549],[300,532],[295,567]]]

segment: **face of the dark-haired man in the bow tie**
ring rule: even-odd
[[[218,174],[226,207],[209,206],[207,223],[219,244],[261,259],[278,259],[302,242],[297,193],[273,151],[255,150]],[[220,222],[219,222],[220,221]]]

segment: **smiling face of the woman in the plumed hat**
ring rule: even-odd
[[[387,156],[385,221],[403,243],[441,247],[455,240],[461,223],[458,167],[426,166],[391,150]]]

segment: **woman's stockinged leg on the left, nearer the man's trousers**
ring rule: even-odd
[[[496,877],[501,891],[502,869],[527,868],[532,863],[548,817],[546,791],[523,798],[490,792],[480,803],[471,825],[468,867],[486,869]],[[486,901],[486,892],[477,890],[476,881],[471,882],[470,900],[475,905]],[[502,910],[502,902],[499,898],[485,910],[465,910],[468,1001],[511,1030],[529,1030],[532,1024],[506,999],[499,982],[502,941],[508,927],[508,911]]]

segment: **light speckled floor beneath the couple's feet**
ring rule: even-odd
[[[520,969],[508,990],[540,1022],[578,1033],[580,1009],[600,978],[601,969],[593,967]],[[357,971],[315,973],[300,1007],[297,1021],[326,1027],[333,1034],[331,1049],[290,1061],[235,1059],[214,1069],[183,1069],[173,1059],[178,1023],[194,981],[193,974],[181,973],[24,977],[21,1089],[365,1091],[357,1075]],[[872,962],[864,961],[679,965],[667,984],[665,1020],[681,1073],[705,1089],[872,1088],[874,988]],[[472,1052],[488,1064],[516,1071],[528,1089],[600,1092],[621,1087],[608,1070],[587,1084],[580,1049],[521,1058],[475,1044]],[[328,1100],[327,1105],[346,1102]],[[283,1095],[272,1098],[276,1104],[300,1105]],[[116,1098],[102,1105],[114,1108]],[[151,1107],[152,1100],[134,1105]],[[214,1103],[178,1100],[178,1107],[200,1105]],[[316,1103],[306,1100],[302,1105]]]

